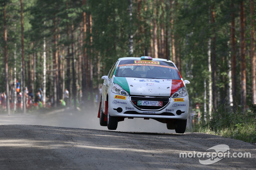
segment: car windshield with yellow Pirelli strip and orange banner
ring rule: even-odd
[[[121,60],[116,77],[164,78],[180,80],[173,63],[152,60]]]

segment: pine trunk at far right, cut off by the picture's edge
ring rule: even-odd
[[[252,104],[256,104],[256,54],[255,54],[255,30],[254,30],[254,0],[250,0],[251,11],[251,63],[252,63]]]

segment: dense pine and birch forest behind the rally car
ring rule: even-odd
[[[92,106],[120,57],[172,60],[191,106],[256,104],[254,0],[0,0],[0,92],[15,102],[16,79],[43,103]],[[22,101],[25,102],[25,95]],[[7,100],[7,111],[9,100]],[[75,105],[75,104],[74,104]],[[26,108],[23,107],[26,112]]]

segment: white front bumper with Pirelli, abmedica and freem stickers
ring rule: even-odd
[[[135,100],[134,100],[135,99]],[[188,95],[181,98],[152,96],[122,96],[110,93],[108,96],[109,115],[120,117],[187,119]],[[162,107],[138,106],[137,101],[163,101]]]

